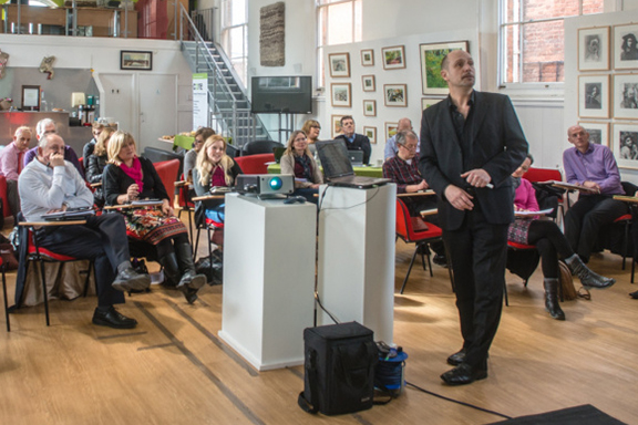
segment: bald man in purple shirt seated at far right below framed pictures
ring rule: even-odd
[[[580,193],[578,201],[565,215],[565,236],[574,252],[589,261],[601,226],[627,214],[627,206],[614,195],[625,195],[614,154],[607,146],[589,143],[589,134],[579,125],[567,131],[574,145],[563,153],[567,183],[593,189]]]

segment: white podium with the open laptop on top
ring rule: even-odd
[[[321,186],[318,292],[341,322],[357,321],[392,342],[397,185]],[[323,311],[319,323],[331,324]]]

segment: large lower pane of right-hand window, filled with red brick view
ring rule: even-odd
[[[523,82],[563,82],[563,21],[523,25]]]

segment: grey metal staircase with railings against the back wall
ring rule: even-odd
[[[241,147],[250,141],[271,141],[268,129],[250,112],[246,89],[235,73],[230,61],[218,44],[204,41],[188,13],[181,4],[182,51],[194,73],[208,74],[209,126],[231,137],[233,145]]]

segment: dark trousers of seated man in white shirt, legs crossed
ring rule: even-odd
[[[85,225],[43,227],[35,237],[38,245],[53,252],[95,262],[99,305],[124,302],[124,293],[111,286],[117,276],[117,266],[131,260],[124,217],[103,214],[89,217]]]

